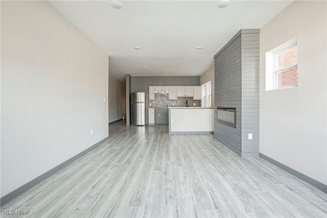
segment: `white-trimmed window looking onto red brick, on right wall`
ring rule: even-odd
[[[297,86],[297,39],[266,53],[266,90]]]

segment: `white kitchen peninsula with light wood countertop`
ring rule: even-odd
[[[169,107],[169,134],[214,133],[214,107]]]

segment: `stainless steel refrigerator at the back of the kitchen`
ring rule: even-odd
[[[145,92],[131,93],[131,125],[145,126]]]

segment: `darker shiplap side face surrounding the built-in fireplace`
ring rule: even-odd
[[[215,109],[215,138],[237,153],[242,151],[241,104],[242,61],[241,35],[233,37],[215,56],[215,108],[236,108],[236,129],[217,123]]]

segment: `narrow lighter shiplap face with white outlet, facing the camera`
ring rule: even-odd
[[[259,155],[259,30],[242,33],[242,156]],[[252,140],[248,134],[252,133]]]

